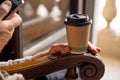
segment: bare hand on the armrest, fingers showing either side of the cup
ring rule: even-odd
[[[93,46],[90,42],[88,42],[88,49],[92,51],[94,54],[97,54],[101,51],[99,47]],[[57,52],[64,54],[64,53],[70,52],[70,48],[68,47],[68,44],[65,44],[65,43],[54,44],[50,49],[33,55],[32,59],[37,59],[46,55],[55,54]]]

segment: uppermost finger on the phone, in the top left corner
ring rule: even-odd
[[[1,5],[0,5],[0,20],[2,20],[5,15],[7,15],[7,13],[10,11],[12,7],[12,4],[10,1],[4,1]]]

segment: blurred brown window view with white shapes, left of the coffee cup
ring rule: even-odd
[[[32,55],[56,42],[65,42],[64,19],[77,13],[78,0],[29,0],[23,8],[24,56]],[[65,38],[62,39],[61,38]]]

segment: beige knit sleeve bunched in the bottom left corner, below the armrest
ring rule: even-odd
[[[0,80],[25,80],[21,74],[9,75],[6,71],[0,71]]]

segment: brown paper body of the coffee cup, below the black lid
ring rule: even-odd
[[[90,25],[84,27],[73,27],[66,25],[68,45],[73,54],[87,52]]]

